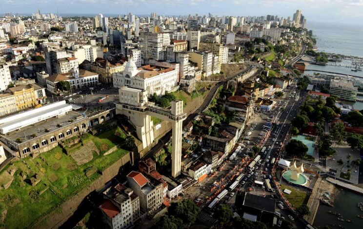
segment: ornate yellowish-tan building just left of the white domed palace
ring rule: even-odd
[[[125,65],[123,63],[111,64],[108,60],[102,58],[97,58],[91,64],[91,72],[97,73],[102,83],[112,83],[112,74],[122,72],[124,69]]]

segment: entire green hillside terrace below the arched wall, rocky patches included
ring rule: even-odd
[[[31,227],[77,195],[128,153],[122,149],[125,138],[119,127],[97,136],[87,133],[74,147],[58,146],[36,158],[19,159],[5,166],[0,172],[0,212],[6,214],[0,219],[0,227]],[[121,149],[105,154],[117,145]]]

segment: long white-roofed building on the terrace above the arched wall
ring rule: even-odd
[[[65,101],[51,103],[40,108],[32,109],[17,115],[11,115],[0,119],[0,133],[7,134],[11,131],[21,129],[34,123],[51,117],[65,115],[72,111],[72,105]]]

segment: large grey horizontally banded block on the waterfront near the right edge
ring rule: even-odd
[[[356,101],[358,88],[353,86],[352,82],[342,79],[331,79],[330,95],[336,95],[338,98],[348,101]]]

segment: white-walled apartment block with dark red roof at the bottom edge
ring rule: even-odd
[[[132,228],[141,217],[140,198],[132,189],[119,183],[104,191],[103,198],[102,220],[111,229]]]

